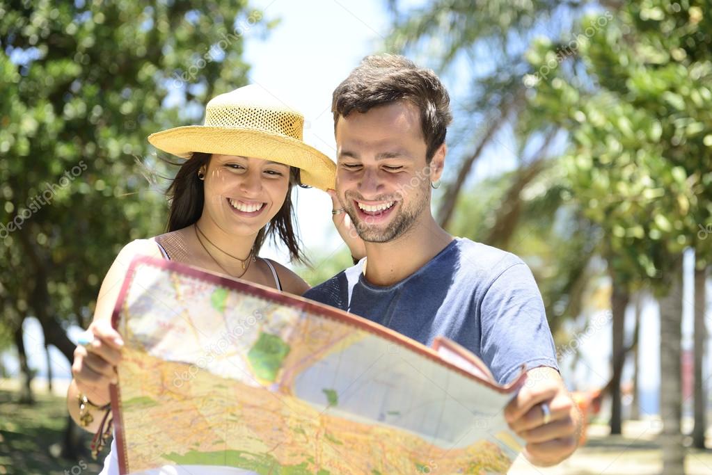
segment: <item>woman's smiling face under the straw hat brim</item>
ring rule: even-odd
[[[276,161],[214,154],[205,172],[203,212],[226,233],[256,235],[282,207],[289,173]]]

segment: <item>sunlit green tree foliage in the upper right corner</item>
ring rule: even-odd
[[[606,235],[609,264],[664,292],[685,247],[712,240],[712,18],[708,1],[625,2],[577,41],[574,64],[540,72],[560,46],[535,43],[530,106],[567,129],[575,200]],[[584,18],[582,28],[601,15]],[[662,277],[662,279],[660,278]]]

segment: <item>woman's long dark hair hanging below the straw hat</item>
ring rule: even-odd
[[[170,203],[168,232],[187,228],[189,225],[197,223],[203,214],[205,191],[203,181],[198,178],[198,171],[201,166],[207,168],[210,158],[211,154],[194,152],[191,159],[180,165],[178,173],[166,191]],[[273,242],[276,242],[279,237],[289,250],[290,261],[308,262],[300,249],[300,240],[295,233],[293,224],[292,186],[302,186],[299,172],[298,168],[290,166],[287,196],[274,218],[257,234],[252,247],[255,255],[258,254],[266,237],[271,237]]]

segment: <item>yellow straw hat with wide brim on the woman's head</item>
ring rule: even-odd
[[[192,152],[251,156],[301,169],[305,185],[334,188],[336,166],[303,142],[304,116],[256,85],[214,97],[203,125],[175,127],[148,136],[169,154],[189,159]]]

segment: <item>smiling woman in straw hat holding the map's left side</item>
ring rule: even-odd
[[[291,188],[334,186],[333,161],[304,144],[302,132],[300,114],[251,85],[211,100],[203,126],[149,137],[157,149],[188,160],[169,187],[168,233],[135,240],[121,250],[101,286],[87,338],[75,349],[67,405],[81,427],[104,432],[110,417],[109,385],[117,383],[115,366],[123,344],[111,315],[135,255],[177,260],[297,295],[309,288],[286,267],[258,257],[265,238],[275,237],[292,260],[301,260]],[[112,446],[102,473],[117,473],[115,455]]]

